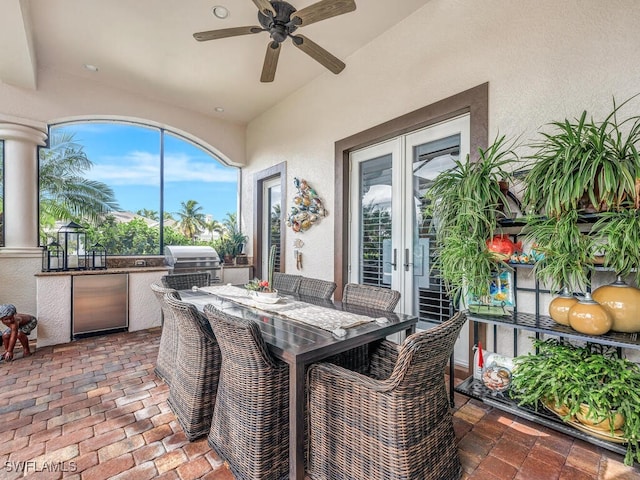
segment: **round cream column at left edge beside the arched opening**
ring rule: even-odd
[[[38,248],[38,145],[47,133],[29,125],[0,123],[4,140],[3,254],[40,255]]]

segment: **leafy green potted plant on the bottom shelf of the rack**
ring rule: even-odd
[[[581,347],[554,338],[534,340],[534,347],[537,353],[513,359],[511,398],[536,410],[545,405],[596,436],[623,437],[625,464],[640,462],[640,366],[602,345]]]

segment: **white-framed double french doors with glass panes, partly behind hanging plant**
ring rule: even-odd
[[[351,153],[349,281],[398,290],[398,309],[421,321],[449,318],[424,194],[468,153],[468,114]]]

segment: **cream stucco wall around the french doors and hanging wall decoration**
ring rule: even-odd
[[[347,58],[339,76],[327,73],[249,124],[245,221],[253,216],[251,172],[286,161],[283,211],[297,176],[331,214],[336,141],[484,82],[489,140],[501,133],[527,142],[548,122],[585,109],[601,117],[614,96],[622,101],[640,92],[632,54],[640,45],[638,18],[634,0],[432,0]],[[640,100],[632,105],[640,113]],[[304,240],[304,275],[333,278],[331,215],[285,237],[289,252],[295,238]],[[292,255],[286,269],[295,270]],[[530,311],[533,301],[519,307]],[[506,335],[504,345],[511,342]]]

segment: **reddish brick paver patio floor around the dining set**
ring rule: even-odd
[[[103,335],[0,363],[0,479],[233,479],[167,406],[159,339]],[[617,454],[463,396],[454,422],[464,479],[640,479]]]

